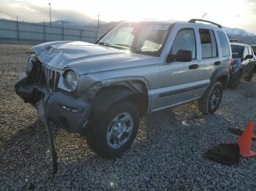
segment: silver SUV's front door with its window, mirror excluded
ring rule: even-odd
[[[178,50],[192,52],[192,61],[173,61],[159,66],[161,87],[151,90],[152,111],[200,98],[210,80],[206,71],[200,66],[197,58],[195,28],[181,28],[171,47],[170,54],[176,55]]]

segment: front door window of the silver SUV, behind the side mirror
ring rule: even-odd
[[[170,54],[176,55],[178,50],[190,50],[192,52],[192,59],[195,59],[196,47],[194,29],[184,28],[178,31]]]

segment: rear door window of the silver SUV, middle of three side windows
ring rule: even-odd
[[[217,57],[217,44],[214,31],[200,28],[199,34],[202,47],[202,58]]]

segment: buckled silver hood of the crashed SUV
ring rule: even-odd
[[[154,64],[159,58],[86,42],[46,42],[32,47],[42,63],[78,74]]]

